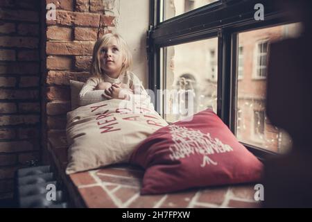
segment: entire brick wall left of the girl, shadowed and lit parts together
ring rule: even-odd
[[[114,30],[118,0],[0,1],[0,199],[16,169],[46,163],[47,139],[65,135],[69,80],[89,77],[94,43]],[[56,19],[46,20],[46,4]]]

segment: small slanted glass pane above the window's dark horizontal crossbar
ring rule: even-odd
[[[218,0],[163,0],[164,4],[164,20],[171,19],[177,15],[182,15],[190,10],[200,8],[209,3],[213,3]]]

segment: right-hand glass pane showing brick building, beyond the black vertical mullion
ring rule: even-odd
[[[270,42],[297,37],[300,27],[288,24],[239,33],[238,49],[243,46],[245,55],[243,65],[237,66],[238,72],[243,69],[244,73],[237,81],[236,101],[236,137],[241,142],[276,153],[285,153],[291,147],[288,134],[272,126],[266,117],[266,65]]]

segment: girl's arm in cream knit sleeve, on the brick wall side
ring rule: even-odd
[[[100,82],[101,80],[99,78],[89,78],[87,80],[79,93],[79,105],[89,105],[106,100],[102,96],[104,90],[95,90]]]

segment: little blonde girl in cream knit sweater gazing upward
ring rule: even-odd
[[[129,71],[132,56],[119,34],[108,33],[97,40],[93,49],[91,74],[79,94],[80,105],[107,99],[149,98],[141,81]]]

